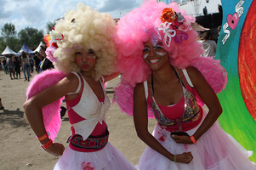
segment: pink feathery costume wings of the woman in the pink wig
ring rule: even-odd
[[[225,68],[219,64],[219,60],[213,58],[199,57],[190,63],[191,66],[195,66],[199,71],[202,72],[203,77],[207,80],[209,85],[213,88],[216,94],[220,93],[221,90],[225,89],[227,83],[227,73]],[[128,82],[121,81],[117,88],[114,88],[115,95],[113,102],[117,102],[122,112],[129,116],[134,115],[134,87]],[[204,105],[199,95],[196,95],[198,105]],[[148,105],[148,117],[154,118],[151,110],[151,105]]]

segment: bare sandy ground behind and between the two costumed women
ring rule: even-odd
[[[35,76],[33,73],[32,76]],[[4,110],[0,111],[0,169],[1,170],[48,170],[53,169],[59,156],[49,155],[40,148],[40,143],[26,120],[23,103],[26,101],[26,88],[29,82],[21,79],[11,80],[9,75],[0,71],[0,97]],[[117,86],[116,78],[108,83],[106,88],[110,99],[113,98],[113,88]],[[63,104],[65,105],[65,103]],[[138,164],[139,156],[145,150],[145,144],[137,137],[131,116],[122,113],[117,104],[111,105],[106,114],[106,123],[110,131],[112,145],[134,165]],[[152,132],[156,121],[149,121]],[[62,118],[60,133],[56,142],[67,146],[66,139],[71,134],[67,114]]]

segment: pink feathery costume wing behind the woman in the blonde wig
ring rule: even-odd
[[[30,99],[33,95],[42,91],[44,88],[48,88],[59,82],[63,77],[65,77],[63,72],[54,69],[43,71],[42,73],[33,77],[28,88],[26,89],[27,99]],[[50,134],[49,139],[52,139],[53,141],[60,131],[60,106],[62,99],[64,99],[64,97],[43,107],[43,123],[46,131]]]

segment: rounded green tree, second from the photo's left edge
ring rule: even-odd
[[[27,47],[34,50],[37,45],[43,40],[43,30],[38,31],[36,28],[26,27],[18,33],[21,45],[24,43]]]

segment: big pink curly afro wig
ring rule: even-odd
[[[185,10],[180,10],[177,3],[156,3],[156,0],[145,1],[140,8],[135,8],[122,17],[117,23],[117,37],[115,41],[118,48],[117,67],[122,72],[124,81],[135,86],[138,82],[144,82],[151,74],[151,70],[143,59],[143,42],[151,40],[151,30],[158,29],[163,23],[160,20],[164,8],[173,8],[176,13],[181,13],[185,18],[185,24],[195,22],[195,18],[185,15]],[[185,26],[185,25],[184,25]],[[177,43],[171,39],[168,47],[162,42],[163,48],[169,54],[170,64],[179,69],[190,65],[192,59],[202,54],[202,48],[196,41],[197,32],[193,29],[188,31],[176,30],[176,35],[185,32],[187,39]],[[164,32],[159,31],[161,39]],[[158,39],[159,41],[159,39]]]

